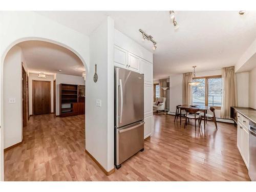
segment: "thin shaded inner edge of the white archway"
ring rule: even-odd
[[[58,45],[58,46],[62,46],[63,44],[59,44],[59,43],[56,43],[55,41],[51,41],[51,40],[49,40],[49,39],[43,39],[43,38],[23,38],[23,39],[19,39],[19,40],[17,40],[17,41],[15,41],[16,43],[20,43],[20,42],[24,42],[24,41],[28,41],[28,39],[30,39],[30,40],[38,40],[38,39],[40,39],[40,40],[43,40],[43,41],[45,41],[45,42],[51,42],[51,43],[53,43],[53,44],[55,44],[55,45]],[[16,45],[16,44],[15,44]],[[65,48],[67,48],[67,46],[62,46],[62,47],[65,47]],[[4,54],[5,55],[5,57],[6,57],[6,55],[7,55],[7,53],[11,50],[13,48],[13,46],[9,46],[8,48],[7,48],[7,50],[6,50],[6,53]],[[86,66],[86,63],[84,62],[84,59],[78,54],[78,53],[76,53],[76,51],[74,51],[73,49],[71,49],[71,48],[69,48],[69,50],[70,51],[72,51],[74,54],[76,54],[77,55],[77,57],[81,60],[81,62],[82,62],[82,64],[83,64],[83,66],[84,66],[84,68],[85,69],[87,69],[87,66]],[[2,72],[1,72],[1,124],[2,124],[2,129],[1,129],[1,131],[2,131],[2,133],[1,133],[1,135],[2,135],[2,146],[3,146],[3,139],[4,139],[4,137],[3,137],[3,130],[4,130],[4,127],[5,127],[5,125],[4,125],[4,115],[5,115],[5,113],[4,113],[4,100],[3,100],[3,98],[4,98],[4,90],[3,90],[3,80],[4,80],[4,78],[3,78],[3,69],[4,69],[4,61],[1,63],[2,64],[2,66],[1,66],[1,69],[2,69]],[[88,70],[85,70],[86,71],[86,73],[88,73]],[[85,123],[84,123],[84,125],[85,125]],[[1,147],[2,147],[1,146]],[[1,151],[3,150],[3,147],[1,148]],[[83,149],[84,150],[84,149]],[[1,153],[3,153],[3,151],[1,152]],[[3,161],[1,161],[1,164],[3,164]],[[2,166],[3,167],[3,166]],[[3,171],[3,169],[2,169],[2,171]],[[3,172],[2,172],[3,173]],[[3,177],[3,176],[2,176]]]

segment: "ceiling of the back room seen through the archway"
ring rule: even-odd
[[[30,73],[61,73],[82,76],[82,61],[72,51],[50,42],[29,40],[17,44],[22,48]],[[61,70],[59,72],[58,70]]]

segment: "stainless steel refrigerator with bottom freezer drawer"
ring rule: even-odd
[[[115,68],[115,166],[144,150],[144,74]]]

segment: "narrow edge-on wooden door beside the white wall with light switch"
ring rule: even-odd
[[[23,126],[28,123],[28,108],[27,108],[27,73],[22,66],[22,120]]]

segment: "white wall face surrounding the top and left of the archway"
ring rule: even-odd
[[[89,73],[89,37],[54,20],[32,11],[5,11],[0,13],[0,61],[1,61],[1,129],[0,129],[0,181],[4,180],[4,109],[3,72],[4,59],[8,51],[18,42],[25,40],[44,40],[65,47],[74,52],[83,62]]]

